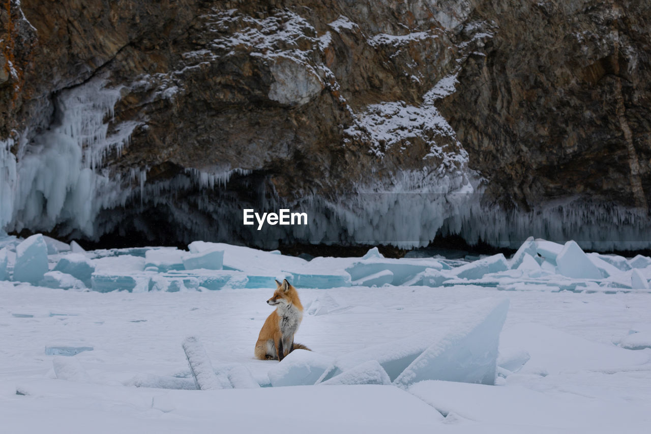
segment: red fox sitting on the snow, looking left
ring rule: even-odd
[[[294,334],[303,319],[303,305],[296,288],[286,279],[283,283],[276,280],[276,285],[273,297],[267,300],[270,306],[277,306],[276,310],[264,321],[255,344],[255,356],[260,360],[280,361],[297,348],[311,351],[305,345],[294,343]]]

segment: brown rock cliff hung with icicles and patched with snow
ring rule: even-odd
[[[4,3],[7,231],[651,240],[644,2]],[[309,225],[242,225],[279,206]]]

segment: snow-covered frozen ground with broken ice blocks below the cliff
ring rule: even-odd
[[[525,242],[513,259],[472,263],[376,252],[308,262],[225,244],[220,257],[206,243],[190,252],[72,253],[45,242],[52,271],[40,282],[70,289],[0,280],[3,433],[646,433],[651,426],[648,258],[583,256],[572,243],[544,240]],[[20,249],[18,240],[2,243],[0,279],[21,263],[43,267],[38,252],[16,256],[38,250],[39,239]],[[188,258],[217,269],[180,267]],[[55,267],[63,271],[53,274]],[[267,283],[284,277],[325,288],[299,287],[305,315],[296,341],[314,353],[292,353],[279,369],[255,360],[253,347],[272,310],[266,300],[275,285]],[[98,290],[83,289],[83,281]],[[131,292],[100,292],[115,285]],[[182,347],[188,336],[233,388],[195,390]],[[383,357],[414,348],[421,356],[387,384],[396,379]],[[364,360],[368,354],[380,364]],[[466,369],[464,378],[483,379],[495,358],[495,385],[405,381],[439,378],[449,372],[434,368],[455,361],[484,369]],[[270,384],[270,371],[296,381],[299,368],[330,365],[344,371],[332,379],[355,375],[339,381],[346,385]]]

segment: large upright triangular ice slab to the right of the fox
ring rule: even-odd
[[[508,299],[488,304],[434,341],[393,382],[407,388],[424,380],[495,384],[499,334]]]

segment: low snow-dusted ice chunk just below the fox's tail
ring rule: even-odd
[[[324,354],[296,349],[269,369],[272,386],[314,384],[335,359]]]

